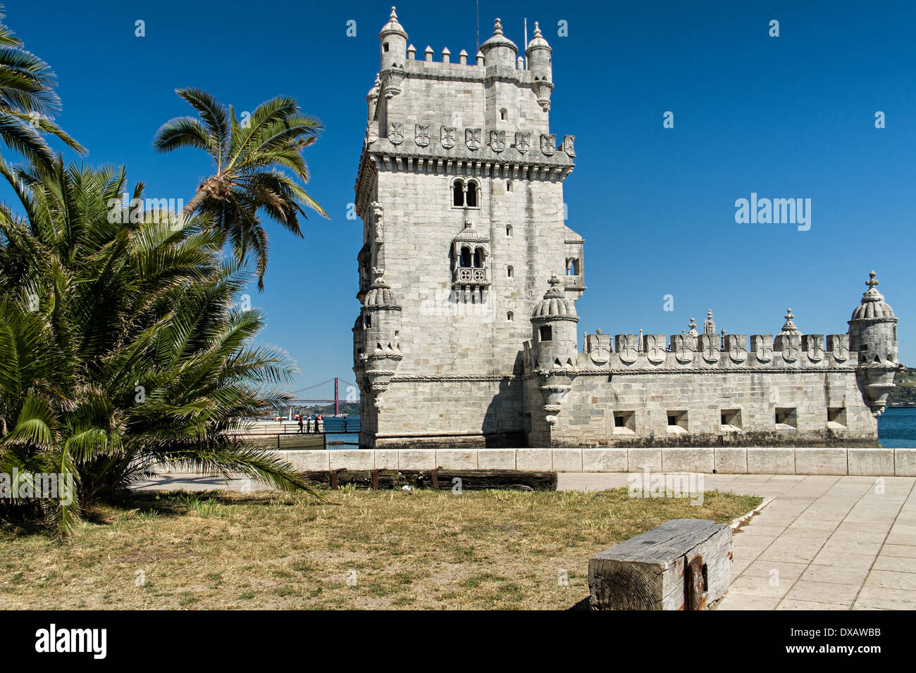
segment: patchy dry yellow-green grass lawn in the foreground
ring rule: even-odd
[[[136,494],[94,510],[63,545],[0,530],[0,609],[563,609],[587,596],[594,553],[671,518],[728,521],[760,502],[626,489],[327,497]]]

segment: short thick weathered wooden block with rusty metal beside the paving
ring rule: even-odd
[[[593,610],[702,610],[732,581],[732,529],[672,519],[588,563]]]

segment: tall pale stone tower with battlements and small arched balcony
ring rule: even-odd
[[[354,188],[360,444],[523,446],[529,317],[548,281],[569,306],[584,290],[562,195],[574,136],[557,147],[550,127],[551,47],[536,25],[526,61],[496,19],[474,59],[426,47],[418,60],[394,8],[379,45]]]

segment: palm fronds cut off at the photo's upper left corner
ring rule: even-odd
[[[54,153],[43,134],[57,136],[80,154],[85,149],[53,121],[60,111],[55,78],[47,63],[25,49],[3,24],[0,5],[0,138],[34,164],[48,165]]]

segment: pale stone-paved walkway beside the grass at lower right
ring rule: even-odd
[[[561,472],[559,488],[627,485]],[[916,478],[708,474],[707,491],[772,498],[734,537],[718,610],[916,610]]]

